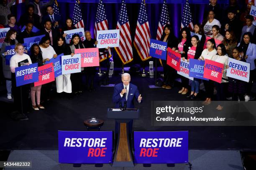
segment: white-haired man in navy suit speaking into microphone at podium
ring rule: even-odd
[[[115,108],[123,107],[134,108],[133,99],[135,98],[138,103],[141,103],[142,97],[138,91],[138,87],[130,83],[131,76],[129,73],[123,73],[122,82],[115,85],[113,102],[115,103]]]

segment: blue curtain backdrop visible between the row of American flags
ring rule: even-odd
[[[57,0],[59,3],[59,10],[61,17],[65,20],[67,17],[72,18],[74,2],[75,0]],[[97,2],[98,0],[80,0],[82,3],[80,4],[82,10],[82,16],[84,20],[84,25],[86,30],[90,30],[93,35],[96,11],[97,11]],[[127,11],[128,18],[131,27],[131,38],[132,42],[134,40],[134,34],[136,29],[136,23],[138,19],[138,10],[140,7],[140,0],[126,0],[127,1]],[[120,2],[121,0],[103,0],[105,5],[105,10],[108,18],[109,29],[115,29],[119,10],[120,10]],[[168,11],[170,16],[170,22],[174,30],[174,34],[178,37],[180,25],[181,25],[181,17],[185,0],[167,0]],[[193,23],[201,23],[203,20],[203,13],[205,7],[208,5],[209,0],[189,0]],[[226,9],[228,6],[228,0],[218,0],[223,9]],[[239,4],[245,4],[244,0],[238,0]],[[146,0],[146,10],[148,13],[148,23],[151,31],[151,38],[156,39],[156,31],[159,22],[159,15],[161,12],[162,0]],[[24,3],[17,5],[17,18],[24,12],[23,9],[25,5]],[[241,5],[242,8],[242,5]],[[121,65],[120,58],[116,54],[113,49],[113,59],[115,61],[115,66]],[[128,63],[127,65],[140,63],[141,59],[138,57],[137,51],[133,47],[133,62]],[[147,62],[147,61],[146,61]],[[148,62],[147,64],[148,65]]]

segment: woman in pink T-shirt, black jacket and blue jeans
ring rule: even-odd
[[[189,59],[198,59],[202,53],[202,47],[200,47],[200,40],[197,35],[191,37],[191,44],[192,46],[189,47],[187,51],[187,62]],[[199,92],[199,85],[201,80],[194,77],[194,80],[191,83],[191,93],[187,96],[191,100],[194,100]]]

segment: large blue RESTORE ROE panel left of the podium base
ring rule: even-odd
[[[112,131],[59,131],[59,163],[112,163]]]

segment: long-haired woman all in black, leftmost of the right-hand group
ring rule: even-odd
[[[161,36],[161,41],[167,42],[167,47],[170,47],[171,49],[173,47],[177,47],[178,39],[177,37],[175,37],[170,24],[166,24],[164,26],[164,32]],[[162,85],[162,87],[166,89],[171,89],[177,74],[176,70],[174,70],[174,68],[172,68],[171,66],[167,65],[166,60],[161,60],[161,62],[164,67],[164,85]]]

